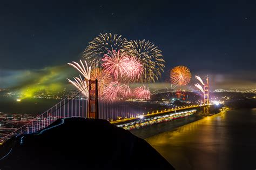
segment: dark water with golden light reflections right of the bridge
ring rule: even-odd
[[[176,169],[255,169],[256,110],[233,110],[147,138]]]

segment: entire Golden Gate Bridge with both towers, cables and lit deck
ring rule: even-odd
[[[135,127],[134,122],[139,121],[142,126],[169,121],[177,118],[183,118],[192,115],[196,112],[196,108],[203,107],[204,113],[209,113],[209,107],[212,105],[209,102],[208,93],[208,78],[204,86],[204,103],[203,105],[190,105],[183,107],[168,108],[161,111],[152,111],[152,109],[140,106],[129,100],[119,103],[109,103],[104,100],[98,100],[98,83],[96,80],[89,80],[89,85],[86,87],[89,92],[89,97],[84,98],[82,91],[74,94],[72,97],[65,98],[56,105],[46,110],[41,115],[30,120],[25,125],[17,128],[15,131],[5,135],[0,139],[0,142],[17,137],[20,134],[30,134],[43,130],[51,125],[54,121],[60,118],[96,118],[110,121],[111,124],[123,127],[127,130],[130,127]],[[107,86],[106,86],[107,87]],[[114,92],[113,93],[117,93]],[[119,93],[117,93],[120,97]],[[151,122],[151,123],[150,123]]]

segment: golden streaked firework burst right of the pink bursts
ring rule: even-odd
[[[136,57],[143,65],[143,74],[140,82],[155,82],[164,72],[163,55],[156,45],[144,40],[132,40],[126,50],[130,56]]]

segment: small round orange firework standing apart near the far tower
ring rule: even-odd
[[[171,70],[170,79],[172,84],[185,86],[190,83],[191,72],[186,66],[176,66]]]

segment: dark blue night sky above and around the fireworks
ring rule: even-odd
[[[216,87],[256,85],[256,1],[5,1],[0,13],[0,87],[77,61],[109,32],[156,44],[166,61],[162,81],[186,65]]]

